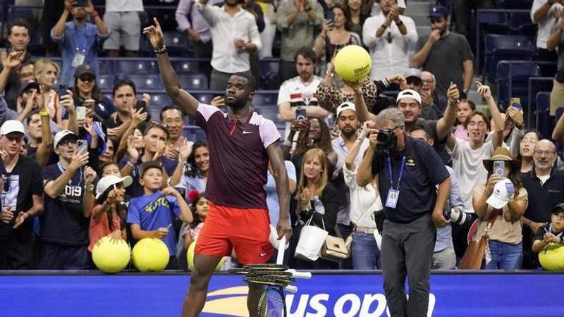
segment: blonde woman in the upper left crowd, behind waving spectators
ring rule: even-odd
[[[33,74],[35,75],[35,80],[41,85],[41,92],[44,97],[45,108],[49,111],[49,118],[63,128],[63,111],[59,104],[60,96],[54,89],[61,74],[61,68],[50,59],[39,59],[35,62]]]

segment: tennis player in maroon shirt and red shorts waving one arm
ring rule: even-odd
[[[229,113],[223,113],[219,108],[201,104],[180,88],[157,19],[143,33],[149,37],[157,54],[166,92],[189,116],[195,117],[197,125],[206,132],[209,144],[210,172],[206,187],[209,212],[196,242],[194,269],[182,313],[185,317],[198,316],[204,308],[209,279],[223,256],[230,256],[235,249],[238,261],[248,264],[264,263],[273,253],[264,190],[269,161],[274,168],[280,201],[278,239],[286,235],[288,240],[292,234],[288,221],[288,175],[278,146],[280,134],[276,126],[251,109],[255,94],[252,76],[229,77],[225,92]],[[257,316],[263,291],[261,286],[249,285],[250,316]]]

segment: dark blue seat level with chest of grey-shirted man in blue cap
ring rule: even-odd
[[[484,38],[484,81],[496,81],[497,63],[501,60],[532,60],[536,49],[532,42],[521,35],[486,35]]]

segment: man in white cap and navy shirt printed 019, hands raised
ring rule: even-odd
[[[42,173],[45,208],[41,218],[42,249],[39,269],[88,269],[91,266],[88,247],[89,216],[83,211],[84,192],[94,188],[96,172],[88,166],[88,153],[78,153],[78,137],[62,130],[54,137],[53,147],[59,156],[56,164]]]

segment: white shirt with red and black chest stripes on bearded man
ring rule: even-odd
[[[319,106],[317,103],[317,86],[321,83],[321,78],[314,76],[312,82],[307,85],[302,82],[300,76],[296,76],[286,80],[280,86],[280,91],[278,91],[278,107],[286,102],[290,103],[290,107],[298,106]],[[286,133],[284,133],[284,139],[288,137],[290,133],[290,122],[286,122]]]

